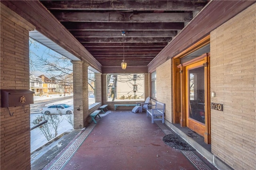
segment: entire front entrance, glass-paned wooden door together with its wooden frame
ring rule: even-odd
[[[210,35],[174,57],[172,64],[173,122],[210,144]]]

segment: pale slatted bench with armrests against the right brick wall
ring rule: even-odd
[[[149,107],[154,106],[154,109],[149,109]],[[156,105],[148,105],[147,106],[147,117],[148,115],[151,115],[152,124],[154,124],[154,121],[161,121],[164,123],[164,110],[165,110],[165,104],[161,103],[159,101],[156,101]],[[157,118],[161,117],[161,118]]]

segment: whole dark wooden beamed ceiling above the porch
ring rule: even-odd
[[[207,0],[40,1],[103,67],[147,66]],[[126,36],[121,32],[125,31]],[[72,43],[72,42],[70,42]]]

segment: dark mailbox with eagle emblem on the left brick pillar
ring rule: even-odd
[[[21,89],[1,89],[1,107],[16,107],[34,103],[33,91]]]

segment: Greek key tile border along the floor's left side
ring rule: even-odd
[[[66,149],[65,152],[63,152],[57,160],[54,160],[55,161],[54,164],[52,164],[49,168],[47,168],[47,170],[63,169],[95,126],[96,124],[94,123],[90,124],[84,130],[84,132],[82,132],[82,134],[68,147],[68,149]]]

